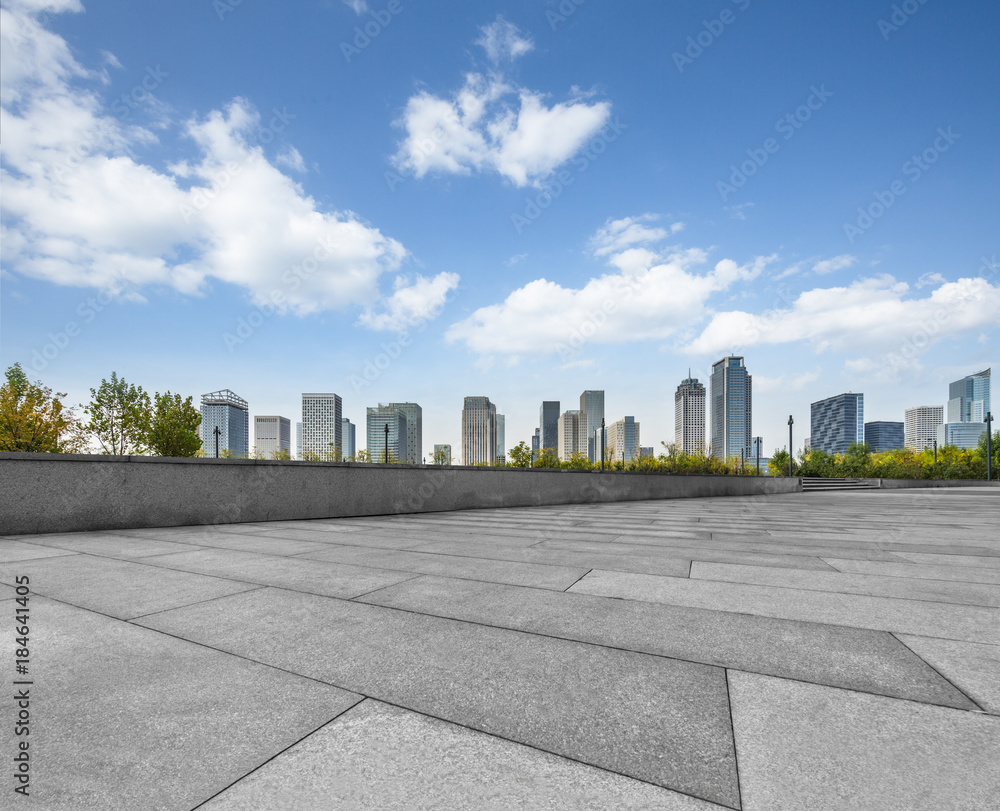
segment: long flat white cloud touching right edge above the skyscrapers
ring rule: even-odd
[[[926,348],[947,335],[996,327],[1000,287],[985,279],[946,283],[926,298],[908,298],[909,285],[892,276],[818,288],[791,306],[768,313],[717,313],[687,349],[714,354],[732,347],[805,341],[817,352],[900,352]]]

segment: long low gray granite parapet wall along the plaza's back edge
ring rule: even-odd
[[[0,453],[0,535],[799,490],[750,476]]]

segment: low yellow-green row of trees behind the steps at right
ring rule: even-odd
[[[993,434],[993,473],[1000,475],[1000,432]],[[792,462],[793,476],[851,479],[985,479],[986,433],[976,448],[944,445],[934,450],[901,448],[873,453],[863,442],[851,445],[846,453],[821,450],[799,451]],[[788,475],[788,452],[775,451],[771,475]]]

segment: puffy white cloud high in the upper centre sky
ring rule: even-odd
[[[395,122],[406,136],[393,163],[418,178],[494,171],[516,186],[540,185],[610,115],[609,102],[590,102],[575,89],[569,101],[550,106],[543,94],[516,88],[501,74],[469,73],[451,98],[421,91],[407,101]]]

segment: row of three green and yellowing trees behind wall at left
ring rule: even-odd
[[[169,391],[152,397],[117,373],[90,390],[87,405],[68,407],[66,395],[32,383],[21,364],[0,385],[0,451],[86,453],[96,441],[107,454],[195,456],[201,414],[191,397]]]

